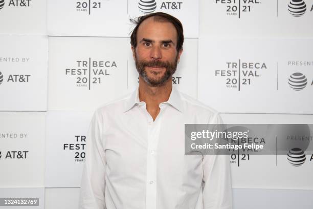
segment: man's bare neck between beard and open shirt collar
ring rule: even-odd
[[[146,109],[153,120],[157,118],[160,112],[160,103],[169,99],[172,91],[172,77],[170,77],[164,86],[151,87],[139,77],[139,100],[146,103]]]

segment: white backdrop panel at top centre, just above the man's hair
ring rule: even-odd
[[[166,12],[181,20],[185,36],[198,37],[198,1],[162,0],[51,0],[48,1],[48,35],[128,37],[129,19]]]

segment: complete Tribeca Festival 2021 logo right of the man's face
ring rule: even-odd
[[[215,76],[226,78],[226,88],[240,89],[250,86],[254,79],[261,76],[261,72],[266,70],[265,62],[226,62],[226,70],[215,70]]]

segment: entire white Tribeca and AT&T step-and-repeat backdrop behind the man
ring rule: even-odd
[[[184,26],[178,90],[226,123],[313,123],[313,0],[0,0],[1,197],[79,188],[93,112],[138,86],[130,19],[159,11]],[[313,189],[311,155],[230,162],[233,187]]]

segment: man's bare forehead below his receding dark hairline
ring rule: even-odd
[[[137,31],[137,40],[148,38],[152,40],[171,39],[174,43],[177,41],[177,31],[175,26],[165,20],[154,20],[154,17],[145,19]]]

